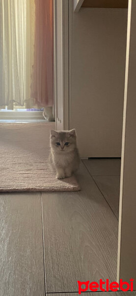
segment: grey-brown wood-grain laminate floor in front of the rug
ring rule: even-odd
[[[89,159],[81,191],[0,194],[0,296],[77,296],[78,280],[116,281],[119,175],[120,159]]]

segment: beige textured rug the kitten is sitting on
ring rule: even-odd
[[[0,123],[0,191],[78,191],[74,176],[55,179],[48,163],[54,123]]]

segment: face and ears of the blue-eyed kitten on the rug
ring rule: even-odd
[[[55,152],[67,153],[76,147],[76,131],[51,130],[50,146]]]

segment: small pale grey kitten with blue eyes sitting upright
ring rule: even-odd
[[[76,142],[76,131],[50,131],[49,162],[56,171],[57,179],[70,177],[79,168],[80,156]]]

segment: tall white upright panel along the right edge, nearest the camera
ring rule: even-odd
[[[122,135],[117,281],[136,290],[136,0],[129,0]]]

